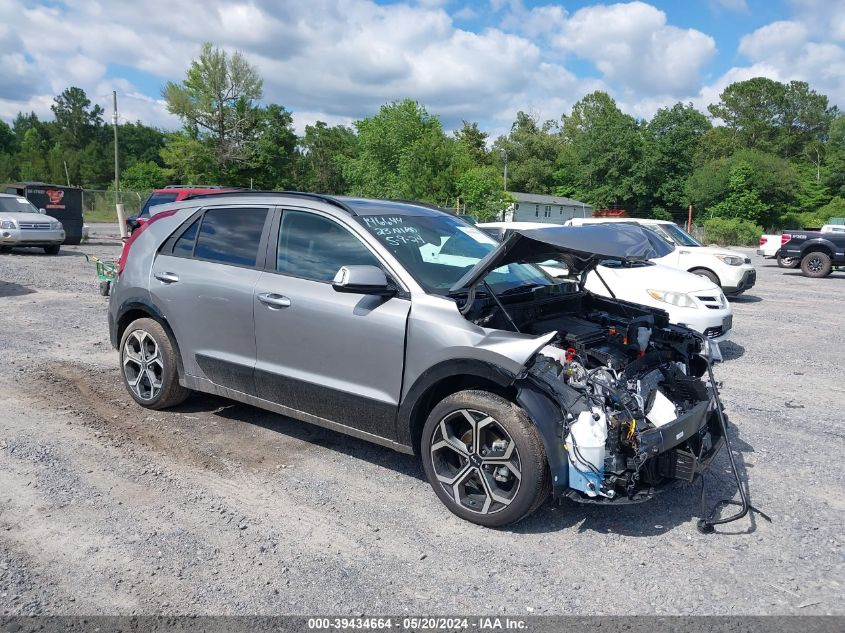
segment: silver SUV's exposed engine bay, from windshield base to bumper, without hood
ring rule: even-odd
[[[523,376],[560,409],[568,481],[556,489],[576,501],[633,502],[664,481],[693,481],[723,435],[715,386],[702,379],[706,343],[661,311],[567,284],[479,293],[462,310],[484,327],[557,332]]]

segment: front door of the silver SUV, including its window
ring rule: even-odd
[[[341,266],[386,270],[351,225],[292,209],[276,225],[255,288],[257,395],[394,439],[410,299],[334,290]]]

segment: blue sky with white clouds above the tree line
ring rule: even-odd
[[[84,88],[174,128],[160,90],[203,41],[240,50],[265,101],[350,123],[411,97],[445,127],[557,119],[593,90],[638,117],[732,81],[800,79],[845,105],[845,0],[0,0],[0,118]]]

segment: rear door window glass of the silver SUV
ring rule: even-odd
[[[255,266],[266,219],[267,209],[209,209],[202,218],[194,257]]]

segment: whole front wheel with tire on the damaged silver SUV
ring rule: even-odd
[[[434,407],[420,447],[434,492],[460,518],[515,523],[549,496],[546,451],[525,412],[487,391],[460,391]]]

